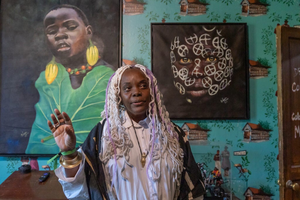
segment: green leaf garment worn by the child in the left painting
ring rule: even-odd
[[[57,108],[66,112],[73,123],[76,135],[76,146],[84,142],[90,130],[101,121],[104,109],[107,83],[114,71],[107,66],[97,66],[83,78],[79,88],[71,86],[69,73],[58,64],[58,74],[48,85],[45,71],[35,82],[40,100],[35,104],[36,117],[32,125],[26,154],[57,154],[59,148],[55,143],[47,120]]]

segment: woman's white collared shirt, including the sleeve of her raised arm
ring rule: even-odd
[[[123,157],[117,160],[118,167],[116,172],[116,180],[114,181],[113,187],[113,192],[115,193],[116,197],[118,199],[138,200],[173,199],[176,190],[176,182],[173,182],[173,174],[171,172],[173,163],[169,158],[168,160],[166,160],[166,155],[163,155],[164,158],[156,160],[154,162],[154,167],[152,167],[152,165],[149,166],[148,172],[150,179],[147,176],[147,166],[149,164],[151,155],[151,150],[148,150],[151,138],[148,126],[150,119],[146,118],[139,123],[136,123],[134,121],[131,122],[127,112],[125,112],[125,115],[122,116],[122,121],[122,125],[125,127],[125,131],[129,133],[130,139],[133,143],[133,147],[129,152],[129,163],[132,165],[132,167],[124,162],[125,159]],[[132,126],[132,123],[134,124],[134,127]],[[107,126],[104,125],[103,134],[107,134],[106,130]],[[134,132],[134,130],[136,133]],[[139,140],[140,147],[137,139]],[[157,143],[157,141],[155,142]],[[105,143],[102,144],[103,148],[105,148],[105,146]],[[142,153],[145,152],[146,154],[147,151],[149,151],[146,157],[146,164],[144,168],[142,167],[140,161],[141,151]],[[160,162],[161,167],[159,167]],[[110,159],[105,165],[105,173],[110,178],[110,183],[113,178],[114,165],[114,159]],[[122,175],[127,180],[124,179],[121,175],[123,165],[125,165],[125,168],[124,171],[122,171]],[[158,175],[159,170],[161,170],[161,178],[158,181],[152,181],[151,179],[153,178],[153,175]],[[65,178],[64,168],[61,166],[55,170],[55,174],[58,176],[59,181],[63,186],[64,193],[68,199],[88,199],[88,191],[85,182],[83,164],[80,165],[80,168],[74,178]],[[110,186],[107,187],[109,188]]]

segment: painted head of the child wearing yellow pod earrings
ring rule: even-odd
[[[59,8],[50,11],[44,19],[47,42],[57,58],[70,58],[85,51],[92,31],[85,26],[75,10]]]

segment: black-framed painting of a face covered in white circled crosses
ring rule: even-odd
[[[151,59],[171,119],[249,119],[246,23],[151,23]]]

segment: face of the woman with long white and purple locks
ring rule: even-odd
[[[149,81],[138,68],[124,71],[120,82],[121,100],[129,116],[136,122],[147,117],[151,101]]]

